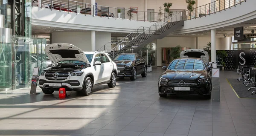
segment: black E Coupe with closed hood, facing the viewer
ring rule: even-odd
[[[169,95],[204,95],[211,98],[210,66],[200,58],[178,58],[163,66],[158,81],[160,97]]]

